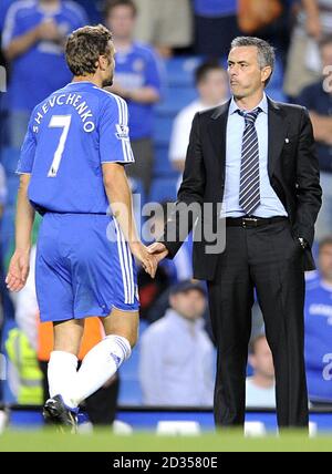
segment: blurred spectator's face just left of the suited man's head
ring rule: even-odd
[[[227,75],[219,69],[211,70],[197,87],[204,102],[211,106],[219,105],[228,96]]]

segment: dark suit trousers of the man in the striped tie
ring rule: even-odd
[[[227,227],[226,249],[208,282],[217,343],[215,421],[243,425],[246,367],[255,289],[276,371],[279,427],[308,426],[304,369],[303,249],[288,219],[260,227]]]

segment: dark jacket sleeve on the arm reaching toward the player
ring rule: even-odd
[[[168,249],[168,258],[174,258],[188,234],[196,217],[201,213],[206,173],[200,140],[200,115],[193,121],[183,183],[178,190],[170,216],[166,220],[164,234],[158,241]]]

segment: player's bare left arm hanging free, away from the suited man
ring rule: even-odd
[[[18,193],[15,218],[15,251],[10,260],[7,286],[10,291],[20,291],[29,276],[31,234],[34,221],[34,209],[28,198],[30,174],[22,174]]]

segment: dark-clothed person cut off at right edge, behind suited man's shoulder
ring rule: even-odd
[[[318,240],[332,233],[332,34],[320,42],[320,52],[325,74],[297,99],[309,110],[320,161],[323,204],[315,226]]]

